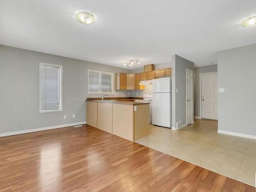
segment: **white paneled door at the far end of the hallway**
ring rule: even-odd
[[[217,73],[201,75],[202,118],[218,119],[218,76]]]

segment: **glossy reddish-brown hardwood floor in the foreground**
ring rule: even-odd
[[[0,191],[254,191],[89,125],[0,138]]]

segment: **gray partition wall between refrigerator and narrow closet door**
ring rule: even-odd
[[[178,55],[172,56],[172,62],[174,71],[172,78],[172,126],[176,127],[178,121],[183,121],[183,124],[186,123],[186,69],[194,70],[194,62]],[[176,93],[176,89],[178,89],[178,93]]]

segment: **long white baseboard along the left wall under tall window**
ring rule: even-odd
[[[58,129],[58,128],[62,128],[62,127],[67,127],[67,126],[80,125],[80,124],[86,124],[86,121],[78,122],[78,123],[69,123],[69,124],[48,126],[48,127],[42,127],[42,128],[32,129],[32,130],[24,130],[24,131],[16,131],[16,132],[9,132],[9,133],[1,133],[0,137],[6,137],[6,136],[11,136],[11,135],[19,135],[19,134],[25,134],[25,133],[32,133],[32,132],[39,132],[39,131],[45,131],[45,130],[53,130],[53,129]]]

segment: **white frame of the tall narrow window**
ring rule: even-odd
[[[41,67],[55,67],[55,68],[60,68],[60,109],[59,110],[46,110],[42,111],[41,109]],[[60,65],[55,65],[55,64],[50,64],[46,62],[39,62],[39,113],[50,113],[50,112],[61,112],[63,111],[63,105],[62,105],[62,86],[63,86],[63,66]]]

